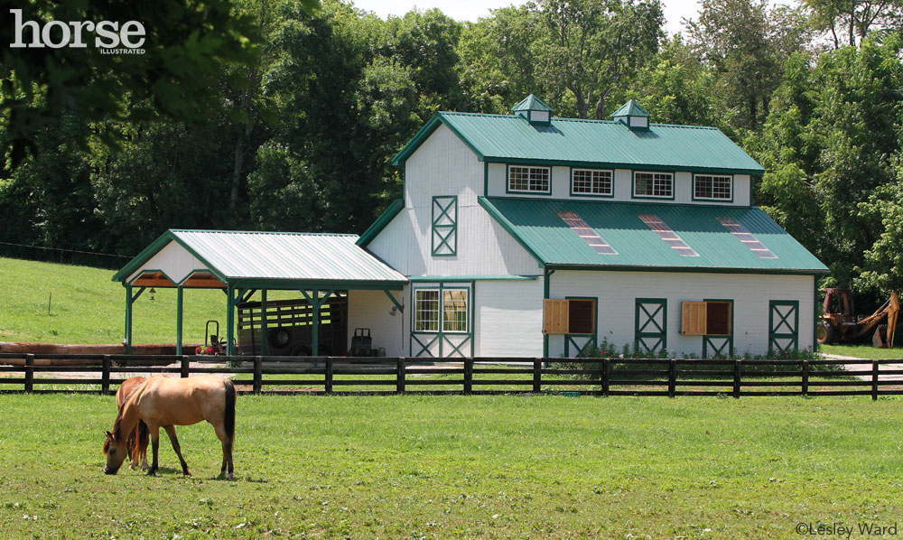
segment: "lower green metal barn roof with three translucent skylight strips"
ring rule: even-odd
[[[544,265],[600,269],[826,274],[828,269],[758,208],[575,200],[479,198],[480,205]],[[603,255],[557,212],[574,212],[617,255]],[[665,222],[698,256],[682,256],[641,215]],[[721,219],[733,219],[776,258],[763,258]]]

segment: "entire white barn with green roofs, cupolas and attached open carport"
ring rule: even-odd
[[[313,328],[285,354],[340,354],[364,328],[372,350],[415,358],[815,347],[828,269],[753,205],[759,163],[717,128],[656,124],[632,100],[605,121],[553,113],[532,95],[509,115],[436,113],[393,160],[403,198],[360,237],[168,231],[114,277],[126,341],[155,285],[180,306],[182,288],[223,289],[229,352],[236,310],[250,352],[281,345],[259,317],[285,307],[271,289],[299,292],[293,324]]]

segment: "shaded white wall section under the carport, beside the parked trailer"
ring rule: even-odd
[[[405,312],[389,315],[395,304],[383,291],[349,291],[348,292],[348,347],[351,348],[351,337],[354,329],[368,328],[373,338],[373,349],[386,349],[386,356],[404,357],[407,355],[409,314],[407,308],[408,289],[390,291],[398,302],[405,304]]]

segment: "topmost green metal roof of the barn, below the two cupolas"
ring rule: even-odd
[[[761,174],[756,160],[715,127],[650,124],[631,130],[621,122],[552,118],[531,125],[520,116],[436,113],[392,163],[400,165],[440,125],[448,126],[480,161],[626,169]]]

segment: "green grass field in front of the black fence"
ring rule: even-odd
[[[156,478],[107,477],[112,398],[6,395],[0,537],[770,539],[800,537],[800,522],[892,525],[899,405],[240,396],[225,482],[206,424],[179,430],[191,478],[165,441]]]

